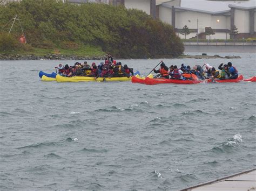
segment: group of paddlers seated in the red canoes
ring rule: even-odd
[[[156,67],[160,64],[160,68],[156,70]],[[152,71],[157,73],[154,78],[163,77],[165,79],[176,79],[176,80],[193,80],[193,75],[196,75],[199,80],[205,79],[218,79],[218,80],[227,80],[227,79],[237,79],[238,70],[232,66],[231,62],[228,62],[227,65],[221,63],[218,69],[210,66],[208,63],[203,66],[196,65],[192,69],[190,66],[185,66],[184,63],[180,68],[177,65],[172,65],[169,68],[161,61]],[[205,69],[203,67],[205,66]],[[151,72],[152,72],[151,71]]]

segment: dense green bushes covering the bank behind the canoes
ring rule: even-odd
[[[184,51],[171,25],[124,6],[76,5],[53,0],[23,0],[1,5],[2,39],[10,29],[11,23],[6,23],[15,15],[32,47],[58,47],[63,43],[92,45],[120,58],[176,57]],[[20,34],[21,26],[14,25],[11,35]]]

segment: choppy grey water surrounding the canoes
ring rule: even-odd
[[[254,76],[255,54],[240,55],[164,61]],[[255,167],[256,83],[39,79],[60,62],[74,63],[0,61],[1,190],[178,190]],[[147,74],[159,60],[122,62]]]

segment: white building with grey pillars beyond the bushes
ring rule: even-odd
[[[199,38],[205,38],[205,27],[211,27],[215,32],[211,39],[229,39],[228,33],[234,25],[239,32],[236,38],[256,37],[255,0],[247,2],[124,0],[124,5],[127,9],[141,9],[172,25],[180,38],[185,38],[180,33],[184,25],[187,25],[191,31],[186,38],[197,37],[197,34]]]

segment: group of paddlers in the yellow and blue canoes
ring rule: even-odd
[[[92,62],[91,66],[85,61],[84,63],[76,62],[75,65],[63,66],[61,63],[58,67],[58,74],[65,77],[87,76],[87,77],[130,77],[133,76],[133,69],[127,65],[122,66],[121,62],[113,60],[109,53],[105,58],[105,62],[100,62],[97,66]],[[57,71],[56,71],[57,73]]]

